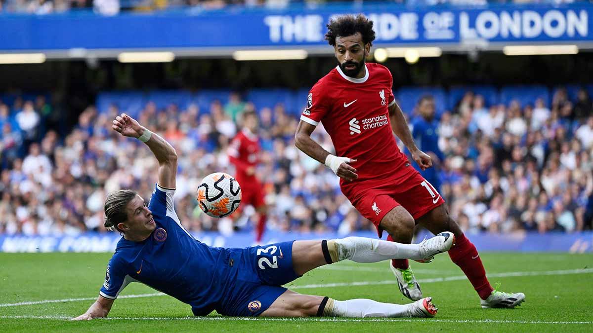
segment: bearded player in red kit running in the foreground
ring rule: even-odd
[[[525,300],[523,293],[498,292],[490,286],[476,246],[449,216],[438,191],[397,147],[394,133],[420,168],[432,167],[431,157],[417,148],[394,99],[390,71],[377,63],[365,63],[375,39],[372,25],[362,14],[337,17],[327,25],[326,39],[339,65],[311,88],[295,144],[342,178],[342,193],[377,226],[380,237],[387,230],[388,240],[410,243],[416,225],[435,234],[453,232],[456,241],[449,257],[476,289],[482,308],[520,305]],[[311,139],[320,122],[331,136],[336,156]],[[390,268],[406,297],[422,298],[407,260],[393,260]]]

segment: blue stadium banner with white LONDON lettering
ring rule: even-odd
[[[327,46],[324,34],[331,17],[356,12],[374,21],[377,45],[593,40],[593,4],[584,2],[563,7],[505,4],[430,10],[365,2],[362,6],[286,11],[85,15],[84,20],[75,14],[5,14],[0,16],[10,19],[0,20],[0,50],[191,48],[216,54],[212,51],[216,48],[230,52],[241,47],[319,47]]]

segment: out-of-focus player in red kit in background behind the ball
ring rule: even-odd
[[[259,162],[260,143],[257,136],[257,114],[248,111],[243,114],[243,129],[232,139],[228,148],[229,159],[235,165],[235,179],[241,186],[241,206],[250,204],[255,207],[259,219],[256,226],[256,241],[262,241],[266,229],[267,207],[264,200],[263,185],[256,177]]]

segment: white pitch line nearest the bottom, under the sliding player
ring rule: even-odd
[[[0,316],[0,319],[71,319],[68,316]],[[97,319],[95,319],[97,320]],[[433,319],[433,318],[265,318],[265,317],[107,317],[98,320],[110,321],[282,321],[282,322],[451,322],[468,324],[593,324],[591,321],[505,321],[495,319]]]

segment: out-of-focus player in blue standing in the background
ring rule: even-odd
[[[441,163],[445,160],[441,149],[439,148],[438,120],[435,120],[435,100],[430,95],[420,98],[417,104],[417,111],[420,117],[412,121],[412,136],[418,148],[427,153],[432,159],[432,168],[420,169],[422,177],[428,180],[436,191],[441,193]]]

